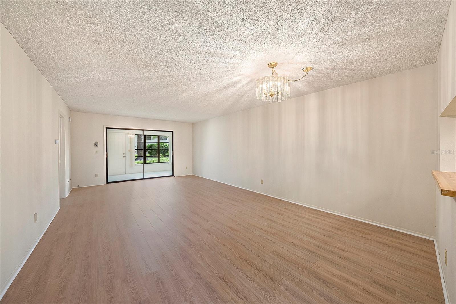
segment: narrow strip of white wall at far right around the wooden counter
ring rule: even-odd
[[[437,57],[438,115],[456,95],[456,3],[453,1]],[[456,119],[439,117],[440,170],[456,172]],[[437,246],[451,303],[456,303],[456,199],[437,191]],[[445,249],[448,266],[445,265]]]

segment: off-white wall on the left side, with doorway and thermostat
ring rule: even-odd
[[[59,110],[70,114],[14,38],[0,24],[0,286],[10,283],[59,208]],[[70,176],[66,122],[67,180]],[[34,214],[38,221],[34,223]]]

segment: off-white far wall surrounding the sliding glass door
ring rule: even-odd
[[[192,124],[82,112],[71,112],[71,124],[73,187],[105,183],[105,126],[174,131],[174,175],[192,174]]]

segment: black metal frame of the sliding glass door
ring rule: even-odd
[[[109,175],[108,175],[108,129],[114,129],[114,130],[131,130],[131,131],[142,131],[142,136],[143,136],[143,178],[136,178],[133,180],[150,180],[153,178],[161,178],[161,177],[170,177],[174,176],[174,131],[166,131],[166,130],[150,130],[150,129],[129,129],[129,128],[111,128],[111,127],[105,127],[104,128],[104,133],[105,133],[105,141],[106,141],[106,146],[105,146],[105,159],[106,159],[106,184],[113,184],[113,183],[120,183],[123,181],[131,181],[131,180],[115,180],[115,181],[109,181]],[[166,175],[166,176],[155,176],[155,177],[145,177],[145,168],[144,166],[147,165],[147,144],[146,144],[146,134],[144,134],[145,131],[150,131],[150,132],[168,132],[171,133],[171,155],[168,155],[172,157],[172,175]],[[135,134],[135,135],[140,135],[140,134]],[[149,135],[149,134],[148,134]],[[160,135],[158,135],[160,138]],[[157,139],[157,158],[160,160],[160,144],[158,144],[160,141]],[[138,149],[139,150],[139,149]],[[126,153],[126,152],[125,152]],[[160,162],[157,163],[150,163],[150,164],[161,164]]]

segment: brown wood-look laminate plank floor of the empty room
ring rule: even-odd
[[[196,176],[73,189],[9,303],[444,303],[434,243]]]

